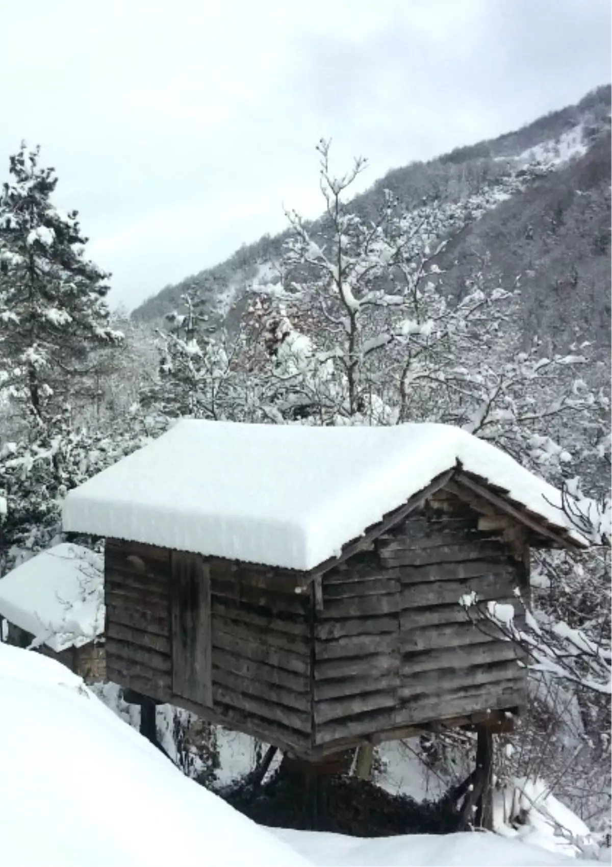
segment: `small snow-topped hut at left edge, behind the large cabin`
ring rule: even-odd
[[[57,544],[0,579],[3,641],[62,662],[84,681],[107,680],[102,558]]]

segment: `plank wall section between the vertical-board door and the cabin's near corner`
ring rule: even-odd
[[[307,747],[312,730],[311,595],[295,592],[283,570],[209,562],[212,699],[231,725]]]

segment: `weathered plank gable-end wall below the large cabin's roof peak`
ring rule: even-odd
[[[463,507],[466,513],[465,506]],[[316,744],[524,703],[517,650],[459,606],[511,602],[521,564],[478,518],[407,518],[323,577]]]

